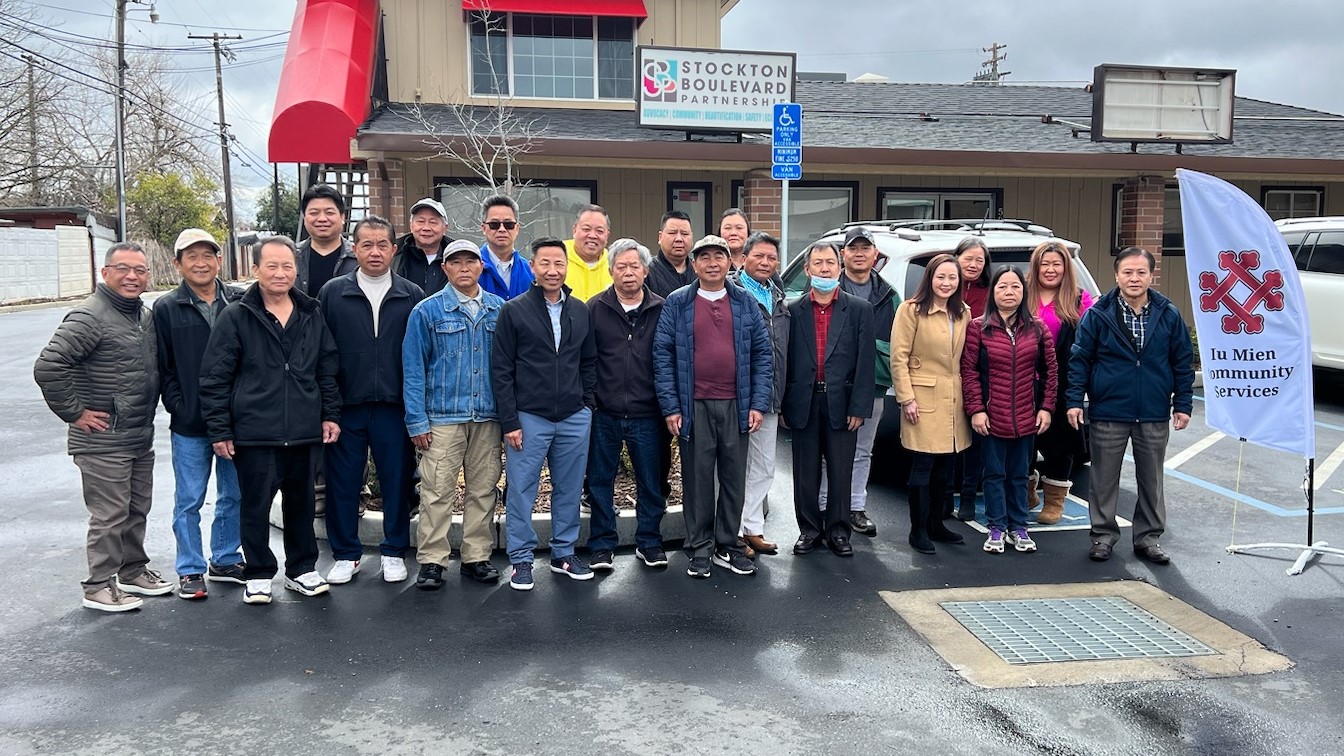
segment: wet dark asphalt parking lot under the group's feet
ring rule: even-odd
[[[62,312],[0,313],[0,753],[1344,752],[1344,560],[1288,577],[1296,553],[1224,552],[1305,539],[1304,464],[1212,436],[1200,402],[1191,428],[1172,434],[1165,568],[1124,542],[1093,564],[1085,530],[1042,533],[1036,554],[989,556],[956,525],[968,545],[915,554],[903,490],[882,480],[870,503],[879,533],[857,537],[855,558],[761,557],[754,577],[694,581],[684,557],[653,572],[625,549],[607,577],[543,572],[528,595],[458,582],[456,568],[437,593],[371,570],[325,597],[278,592],[269,607],[247,607],[241,589],[212,585],[206,601],[146,599],[106,616],[79,608],[78,476],[32,383]],[[1335,545],[1344,545],[1341,389],[1344,378],[1317,375],[1316,538]],[[161,420],[148,547],[171,572]],[[786,443],[780,451],[771,499],[789,502]],[[1125,486],[1121,511],[1132,502]],[[775,506],[767,534],[792,543],[788,506]],[[879,597],[1118,580],[1156,585],[1296,666],[989,690]]]

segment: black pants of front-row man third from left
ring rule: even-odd
[[[242,495],[238,519],[242,531],[247,580],[276,577],[276,554],[270,550],[270,503],[280,492],[285,523],[285,577],[298,577],[317,566],[317,537],[313,534],[313,476],[321,444],[297,447],[237,447],[238,490]]]

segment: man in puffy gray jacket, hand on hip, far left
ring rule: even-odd
[[[102,280],[66,315],[32,377],[51,412],[70,425],[67,448],[83,478],[83,605],[126,612],[142,603],[130,593],[163,596],[173,589],[149,569],[145,554],[159,404],[155,322],[140,300],[149,287],[149,258],[140,245],[113,245]]]

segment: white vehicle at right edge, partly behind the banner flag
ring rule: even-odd
[[[1297,264],[1312,326],[1312,365],[1344,370],[1344,217],[1285,218],[1275,223]]]

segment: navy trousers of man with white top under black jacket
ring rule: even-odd
[[[358,561],[364,552],[359,541],[359,492],[371,449],[383,495],[383,541],[378,552],[405,557],[410,547],[415,452],[406,434],[406,410],[386,402],[345,405],[340,437],[325,448],[327,541],[335,560]]]

